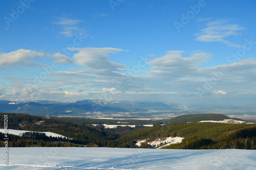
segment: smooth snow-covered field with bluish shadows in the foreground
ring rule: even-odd
[[[0,148],[2,156],[4,148]],[[0,169],[255,169],[253,150],[9,148]],[[3,157],[2,157],[3,159]]]

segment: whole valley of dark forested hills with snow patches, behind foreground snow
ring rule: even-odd
[[[0,115],[4,114],[9,119],[10,147],[256,149],[256,124],[223,114],[184,114],[167,120]],[[36,132],[20,135],[17,130]]]

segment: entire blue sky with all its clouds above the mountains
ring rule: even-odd
[[[0,100],[251,105],[255,1],[1,1]]]

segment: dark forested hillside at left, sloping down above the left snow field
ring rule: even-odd
[[[105,132],[86,125],[78,125],[56,118],[31,116],[27,114],[0,113],[2,120],[4,114],[8,115],[8,129],[29,130],[39,132],[53,132],[87,144],[98,140],[114,140],[115,134]],[[4,122],[0,122],[0,127],[4,127]]]

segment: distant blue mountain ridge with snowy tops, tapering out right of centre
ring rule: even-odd
[[[0,112],[30,115],[79,115],[87,112],[131,112],[148,110],[179,111],[186,106],[178,103],[83,100],[75,103],[53,101],[0,101]]]

